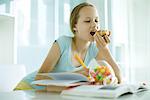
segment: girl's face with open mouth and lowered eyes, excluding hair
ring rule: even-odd
[[[79,12],[77,24],[75,24],[76,37],[85,41],[93,41],[94,38],[90,32],[96,32],[98,30],[98,22],[96,8],[91,6],[83,7]]]

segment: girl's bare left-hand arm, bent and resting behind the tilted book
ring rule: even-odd
[[[52,45],[44,63],[42,64],[41,68],[39,69],[38,73],[48,73],[52,71],[60,58],[60,48],[57,42],[54,42]],[[47,79],[48,77],[36,75],[36,80],[39,79]]]

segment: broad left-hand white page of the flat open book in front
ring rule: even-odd
[[[74,96],[86,96],[86,97],[103,97],[103,98],[115,98],[120,95],[120,91],[117,90],[117,87],[109,87],[109,89],[103,85],[82,85],[75,88],[63,90],[61,95],[74,95]],[[123,92],[124,93],[124,92]]]

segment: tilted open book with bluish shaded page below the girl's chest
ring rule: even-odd
[[[79,73],[59,72],[59,73],[39,73],[38,75],[44,75],[50,77],[52,80],[36,80],[31,84],[41,86],[51,86],[49,91],[61,91],[66,87],[74,87],[83,84],[89,84],[89,80],[86,76]]]

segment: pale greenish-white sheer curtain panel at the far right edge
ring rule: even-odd
[[[150,1],[129,0],[128,5],[131,81],[150,82]]]

